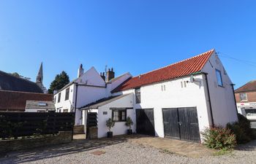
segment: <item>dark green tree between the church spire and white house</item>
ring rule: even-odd
[[[65,71],[57,74],[53,82],[50,83],[48,93],[53,94],[53,90],[60,90],[65,85],[69,84],[69,76]]]

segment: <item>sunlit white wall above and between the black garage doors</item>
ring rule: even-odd
[[[198,81],[203,80],[203,75],[195,76]],[[162,120],[163,108],[197,107],[197,117],[200,131],[209,127],[208,108],[206,104],[203,82],[187,83],[189,77],[159,82],[153,85],[140,87],[141,103],[134,104],[134,109],[154,109],[154,126],[156,136],[164,137]],[[181,87],[181,82],[186,82],[187,87]],[[162,86],[165,90],[162,91]],[[135,90],[126,90],[123,94],[133,93]],[[135,98],[133,100],[135,102]],[[134,112],[135,113],[135,112]]]

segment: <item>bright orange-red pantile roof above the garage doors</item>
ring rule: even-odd
[[[208,58],[214,50],[209,50],[195,57],[182,60],[178,63],[173,63],[169,66],[165,66],[161,69],[150,71],[146,74],[140,74],[140,76],[133,77],[122,85],[118,86],[112,92],[118,92],[121,90],[129,90],[131,88],[141,87],[143,85],[149,85],[155,82],[162,82],[168,79],[175,79],[177,77],[184,77],[189,74],[196,73],[203,69]]]

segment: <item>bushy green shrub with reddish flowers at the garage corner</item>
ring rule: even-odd
[[[236,147],[236,135],[230,129],[207,128],[203,133],[206,147],[211,149],[233,149]]]

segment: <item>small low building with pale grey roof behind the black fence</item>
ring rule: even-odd
[[[26,101],[25,112],[55,112],[53,101]]]

